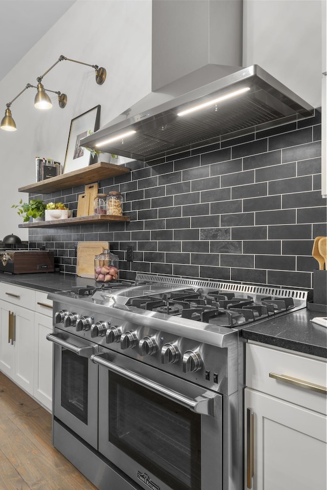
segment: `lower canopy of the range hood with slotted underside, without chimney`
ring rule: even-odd
[[[180,81],[178,83],[180,85]],[[250,87],[250,90],[218,103],[217,110],[212,106],[177,116],[181,109],[243,87]],[[165,93],[165,87],[160,91]],[[152,92],[152,99],[154,95]],[[162,100],[162,94],[160,98]],[[136,105],[137,109],[140,105]],[[136,133],[131,137],[107,143],[99,149],[137,160],[151,160],[166,153],[177,153],[181,148],[195,148],[199,143],[205,144],[204,141],[219,141],[312,116],[314,109],[266,71],[253,65],[152,108],[145,107],[138,113],[131,108],[126,112],[111,125],[82,139],[81,145],[97,148],[96,144],[101,141],[134,130]]]

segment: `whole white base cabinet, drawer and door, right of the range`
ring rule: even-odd
[[[247,344],[246,489],[326,489],[326,377],[322,358]]]

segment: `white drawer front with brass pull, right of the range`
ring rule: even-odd
[[[282,375],[286,379],[275,379],[271,375]],[[292,384],[289,378],[307,383],[308,387]],[[326,414],[326,394],[310,389],[312,385],[327,388],[326,361],[249,342],[246,345],[247,387]]]

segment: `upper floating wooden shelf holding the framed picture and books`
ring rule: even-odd
[[[56,192],[69,187],[76,187],[78,185],[90,184],[99,180],[108,179],[116,175],[127,174],[128,172],[130,172],[128,167],[99,162],[94,165],[89,165],[88,167],[80,168],[79,170],[74,170],[68,174],[58,175],[57,177],[51,177],[51,179],[42,180],[35,184],[19,187],[18,191],[39,194]]]

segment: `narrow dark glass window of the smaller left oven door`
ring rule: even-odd
[[[88,359],[61,351],[61,405],[87,424]]]

